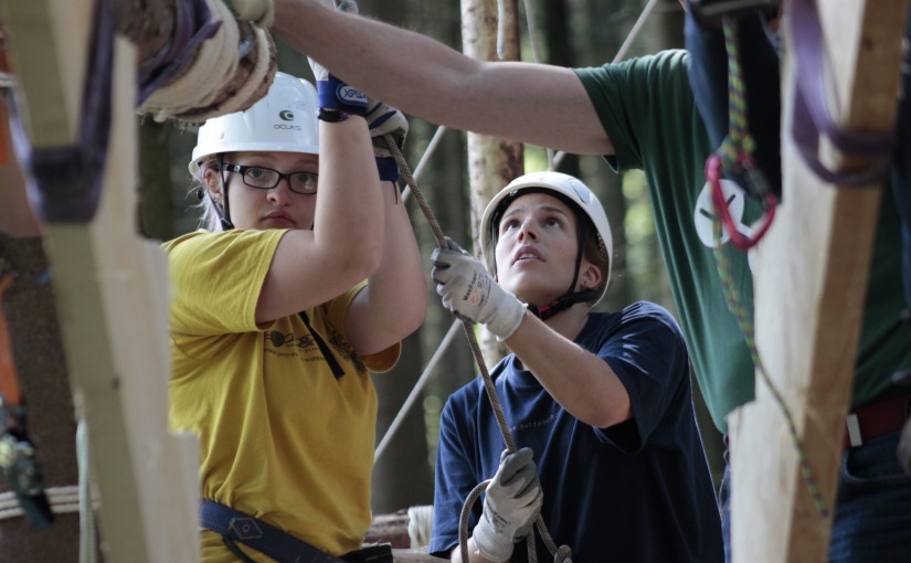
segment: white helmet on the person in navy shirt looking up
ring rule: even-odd
[[[509,185],[500,190],[490,200],[480,219],[480,248],[487,269],[492,274],[497,273],[496,245],[500,217],[509,203],[523,192],[554,192],[573,202],[591,220],[607,254],[605,283],[595,302],[600,301],[607,293],[607,285],[611,282],[611,267],[614,263],[614,242],[611,236],[611,224],[607,222],[604,208],[592,190],[582,180],[561,172],[545,171],[520,176],[509,182]]]

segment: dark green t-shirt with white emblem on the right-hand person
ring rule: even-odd
[[[717,244],[705,188],[706,159],[713,148],[687,76],[689,55],[665,51],[619,64],[579,68],[579,75],[615,155],[617,171],[645,171],[656,231],[680,323],[699,386],[716,426],[753,400],[754,370],[743,332],[730,312],[712,254]],[[725,184],[725,200],[738,230],[750,233],[759,203]],[[858,344],[852,407],[890,393],[890,376],[911,365],[911,328],[901,326],[903,308],[898,212],[888,190],[872,256],[867,308]],[[752,322],[752,276],[746,254],[722,237],[732,285]]]

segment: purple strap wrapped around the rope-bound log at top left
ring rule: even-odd
[[[187,64],[192,62],[200,44],[215,34],[222,22],[212,21],[205,0],[177,0],[174,30],[168,43],[151,59],[139,65],[137,106],[146,103]]]

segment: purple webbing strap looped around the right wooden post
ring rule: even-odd
[[[792,135],[807,166],[822,179],[841,185],[862,185],[882,180],[889,169],[892,135],[841,129],[833,120],[825,92],[823,31],[814,0],[792,1],[792,42],[797,59],[797,88],[793,106]],[[825,135],[850,156],[882,157],[858,171],[834,171],[819,161],[819,136]]]

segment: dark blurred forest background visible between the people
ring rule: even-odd
[[[561,66],[598,66],[615,59],[647,0],[531,0],[536,39],[542,61]],[[433,36],[462,51],[460,8],[456,0],[358,0],[360,13]],[[521,4],[521,2],[520,2]],[[522,60],[532,61],[522,17]],[[682,46],[682,11],[677,0],[658,0],[624,59]],[[276,42],[278,68],[313,79],[306,57]],[[402,64],[411,64],[402,53]],[[357,84],[354,85],[357,86]],[[405,157],[412,170],[421,160],[436,127],[409,116],[411,129]],[[447,130],[425,163],[419,185],[444,233],[470,247],[472,224],[467,185],[466,135]],[[140,220],[144,233],[169,240],[197,227],[197,203],[190,191],[187,162],[195,145],[195,129],[172,123],[140,121]],[[547,169],[542,148],[526,146],[527,172]],[[640,173],[615,174],[598,157],[564,158],[559,171],[583,179],[601,198],[614,235],[613,279],[598,309],[617,310],[637,300],[650,300],[675,312],[667,274],[654,233],[648,193]],[[407,202],[430,272],[435,246],[424,215],[412,198]],[[428,361],[437,353],[453,316],[439,305],[430,283],[430,311],[423,327],[404,344],[399,365],[375,376],[380,396],[378,444],[395,418]],[[434,463],[439,412],[446,397],[476,376],[477,368],[460,330],[445,348],[428,383],[390,438],[374,468],[373,512],[383,514],[433,502]],[[697,413],[716,478],[720,440],[697,393]],[[343,444],[341,445],[343,446]]]

